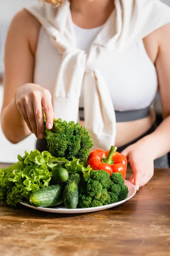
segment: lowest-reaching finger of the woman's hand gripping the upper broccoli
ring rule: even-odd
[[[33,106],[37,126],[37,137],[39,139],[42,139],[44,138],[44,113],[42,110],[42,102],[40,95],[37,95],[37,97],[34,98]]]

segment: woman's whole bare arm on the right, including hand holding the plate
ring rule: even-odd
[[[130,181],[137,189],[152,178],[153,160],[170,151],[170,24],[153,32],[152,38],[158,45],[155,65],[164,120],[152,134],[122,152],[132,167]]]

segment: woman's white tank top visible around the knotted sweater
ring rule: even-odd
[[[77,47],[88,52],[101,28],[82,29],[74,24]],[[53,93],[61,62],[62,56],[41,27],[35,56],[34,83]],[[111,58],[100,71],[108,85],[115,111],[139,110],[152,104],[158,87],[157,74],[142,39],[123,52],[117,61]],[[83,89],[82,84],[80,108],[83,107]]]

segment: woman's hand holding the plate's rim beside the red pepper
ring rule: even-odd
[[[150,148],[146,148],[145,143],[141,140],[130,145],[122,151],[127,157],[127,162],[133,171],[133,175],[129,181],[132,182],[136,189],[144,186],[152,177],[154,173],[153,155]]]

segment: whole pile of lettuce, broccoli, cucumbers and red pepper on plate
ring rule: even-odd
[[[49,152],[25,151],[17,163],[0,169],[0,202],[75,209],[127,198],[127,160],[116,147],[90,152],[93,142],[85,127],[61,119],[54,119],[50,131],[45,129],[45,137]]]

